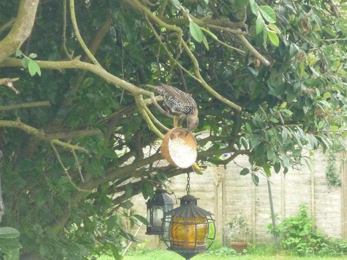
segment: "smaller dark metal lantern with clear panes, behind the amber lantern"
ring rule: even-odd
[[[168,196],[166,190],[159,187],[147,202],[147,220],[151,226],[147,226],[146,235],[161,235],[168,233],[169,225],[162,227],[163,213],[174,208],[174,201]]]

